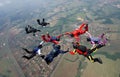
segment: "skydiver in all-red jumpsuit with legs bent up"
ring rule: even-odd
[[[79,28],[75,29],[72,32],[66,32],[64,35],[70,35],[71,37],[74,37],[77,42],[79,42],[80,40],[79,36],[81,34],[84,34],[86,31],[88,31],[88,24],[82,23]]]

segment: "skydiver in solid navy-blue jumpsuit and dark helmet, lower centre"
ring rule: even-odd
[[[48,55],[46,56],[42,55],[41,57],[49,65],[53,61],[53,59],[57,57],[59,54],[65,54],[69,51],[69,49],[67,49],[66,51],[60,49],[61,49],[60,45],[53,44],[53,50]]]

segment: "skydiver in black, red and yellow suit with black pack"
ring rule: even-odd
[[[85,56],[91,62],[98,62],[102,64],[102,60],[100,58],[93,58],[91,55],[93,51],[95,51],[96,49],[99,49],[99,47],[88,49],[86,46],[80,45],[78,42],[73,42],[72,44],[73,44],[74,50],[70,51],[70,54],[74,55],[75,53],[78,53],[79,55]]]

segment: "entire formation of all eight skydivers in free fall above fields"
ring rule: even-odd
[[[44,18],[42,22],[39,19],[37,19],[37,23],[38,25],[41,25],[42,27],[46,27],[48,24],[50,24],[50,23],[45,22]],[[33,35],[35,35],[36,32],[41,32],[41,30],[35,29],[31,27],[30,25],[25,27],[25,31],[27,34],[33,33]],[[86,40],[87,42],[91,43],[92,45],[91,48],[80,44],[80,40],[81,40],[80,35],[83,35],[83,34],[87,34]],[[59,43],[60,43],[61,37],[64,37],[64,35],[68,37],[70,36],[71,38],[75,39],[75,41],[71,41],[72,46],[73,46],[73,51],[69,51],[69,47],[66,51],[61,50],[61,46],[59,45]],[[85,22],[82,23],[79,26],[79,28],[76,28],[75,30],[70,31],[70,32],[59,34],[58,36],[51,36],[48,32],[47,34],[41,34],[40,39],[42,40],[42,42],[38,46],[33,48],[32,51],[29,51],[26,48],[22,48],[24,51],[26,51],[29,54],[29,56],[23,55],[22,57],[30,60],[38,54],[43,60],[45,60],[45,62],[48,65],[52,63],[54,58],[57,57],[59,54],[65,54],[67,52],[69,52],[71,55],[75,55],[76,53],[78,53],[79,55],[83,55],[84,57],[86,57],[92,63],[98,62],[102,64],[103,62],[101,58],[93,58],[92,53],[100,49],[101,47],[104,47],[106,43],[108,42],[108,39],[105,37],[104,33],[102,33],[98,37],[92,36],[88,32],[88,23],[85,23]],[[53,44],[52,45],[53,49],[48,54],[45,55],[41,53],[41,49],[43,48],[43,43],[48,43],[48,42]]]

